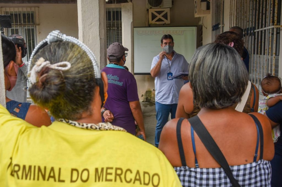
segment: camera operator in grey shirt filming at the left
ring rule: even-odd
[[[11,35],[9,38],[17,37],[20,39],[24,38],[21,35]],[[27,45],[24,40],[24,44],[15,44],[16,45],[16,64],[14,68],[17,73],[17,81],[15,87],[11,91],[6,91],[6,96],[12,100],[19,102],[27,102],[27,67],[28,62],[23,61],[27,55]]]

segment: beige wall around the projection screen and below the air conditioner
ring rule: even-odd
[[[146,0],[133,0],[133,27],[148,27],[149,18]],[[194,17],[194,2],[192,0],[174,1],[170,8],[170,24],[161,26],[197,26],[199,18]],[[177,44],[175,44],[177,45]],[[156,54],[157,55],[157,54]],[[152,59],[153,60],[153,59]],[[135,75],[140,102],[155,101],[155,79],[151,75]]]

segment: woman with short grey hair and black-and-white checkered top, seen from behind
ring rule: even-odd
[[[182,185],[269,186],[274,156],[270,123],[259,113],[232,108],[248,85],[238,53],[225,44],[205,45],[193,55],[189,72],[201,111],[188,120],[169,121],[159,144]]]

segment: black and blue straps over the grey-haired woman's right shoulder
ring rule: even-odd
[[[255,121],[255,126],[257,128],[257,145],[255,147],[255,156],[254,156],[254,162],[255,162],[256,159],[257,159],[257,152],[258,152],[258,148],[259,148],[259,142],[260,142],[259,160],[263,159],[263,128],[261,126],[261,123],[257,119],[257,117],[255,117],[252,114],[249,114],[249,115]]]

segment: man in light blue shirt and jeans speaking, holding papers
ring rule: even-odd
[[[180,72],[188,72],[188,62],[184,56],[173,50],[174,42],[171,35],[163,35],[161,45],[163,51],[154,57],[151,66],[151,75],[155,78],[156,90],[156,118],[155,146],[158,147],[162,128],[168,122],[169,113],[171,119],[175,118],[180,88],[184,85],[182,79],[171,79]]]

